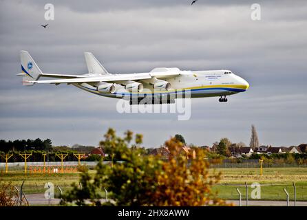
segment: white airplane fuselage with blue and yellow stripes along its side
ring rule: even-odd
[[[142,82],[144,89],[138,91],[128,91],[125,86],[116,84],[114,94],[102,94],[96,87],[87,83],[74,84],[76,87],[89,91],[99,96],[109,98],[124,98],[126,96],[160,96],[166,94],[180,94],[189,91],[191,98],[203,98],[212,96],[230,96],[239,92],[246,91],[249,85],[240,76],[233,74],[229,70],[209,70],[209,71],[180,71],[180,75],[169,78],[171,89],[154,89],[152,85]],[[118,74],[120,75],[120,74]]]

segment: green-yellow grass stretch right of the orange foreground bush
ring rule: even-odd
[[[222,199],[238,199],[238,188],[242,199],[246,199],[248,184],[248,199],[251,199],[251,184],[261,185],[261,200],[286,200],[284,188],[289,193],[290,200],[294,199],[293,181],[297,190],[297,201],[307,201],[307,168],[264,168],[264,175],[260,176],[260,168],[219,168],[215,172],[222,172],[220,184],[214,187]]]

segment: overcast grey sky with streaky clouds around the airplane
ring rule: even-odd
[[[54,21],[45,21],[45,3],[54,4]],[[144,134],[147,147],[176,133],[198,145],[222,137],[249,144],[255,124],[261,144],[306,143],[307,1],[190,3],[0,0],[0,139],[97,146],[112,127]],[[253,3],[262,7],[261,21],[251,20]],[[112,73],[231,69],[251,87],[227,103],[193,99],[187,121],[174,113],[120,114],[117,100],[73,86],[23,87],[20,50],[46,73],[87,73],[89,51]]]

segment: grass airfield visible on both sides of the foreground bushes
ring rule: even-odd
[[[242,192],[242,199],[246,198],[244,182],[248,184],[249,199],[251,199],[251,184],[261,184],[261,200],[286,200],[284,188],[289,192],[293,200],[293,181],[297,186],[297,201],[307,201],[307,168],[264,168],[264,175],[260,176],[259,168],[216,168],[211,171],[222,172],[220,184],[214,186],[222,199],[238,199],[236,188]],[[94,175],[94,170],[89,170]],[[23,190],[26,194],[43,193],[47,181],[52,182],[55,192],[59,193],[56,186],[70,190],[71,184],[78,184],[78,173],[52,174],[52,175],[24,175],[22,171],[11,171],[8,174],[1,173],[0,181],[11,181],[14,186],[20,186],[25,180]]]

